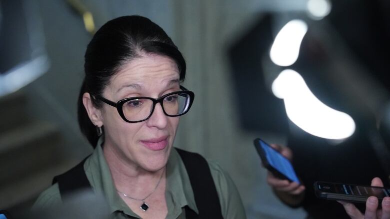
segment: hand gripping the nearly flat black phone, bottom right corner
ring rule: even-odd
[[[371,186],[383,187],[382,181],[375,177],[371,181]],[[365,203],[364,215],[351,203],[341,202],[346,214],[351,219],[390,219],[390,197],[385,197],[382,201],[382,209],[378,210],[378,199],[371,196]]]

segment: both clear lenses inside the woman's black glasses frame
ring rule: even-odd
[[[169,116],[180,115],[188,110],[190,96],[185,93],[166,96],[162,101],[162,108]],[[146,119],[152,113],[153,101],[140,98],[129,100],[122,106],[123,115],[129,121]]]

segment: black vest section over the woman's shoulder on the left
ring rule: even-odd
[[[52,184],[58,183],[61,199],[77,190],[90,189],[92,191],[84,172],[84,163],[88,157],[67,172],[54,177]]]

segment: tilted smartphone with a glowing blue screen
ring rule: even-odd
[[[287,158],[259,138],[254,139],[253,143],[262,164],[274,176],[301,184],[291,162]]]

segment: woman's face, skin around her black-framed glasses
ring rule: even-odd
[[[178,91],[179,71],[176,63],[166,57],[144,54],[124,65],[112,76],[102,96],[113,102],[128,97],[158,98]],[[116,108],[103,104],[104,150],[108,147],[120,161],[147,171],[157,171],[167,162],[179,117],[166,116],[157,103],[145,121],[127,123]]]

